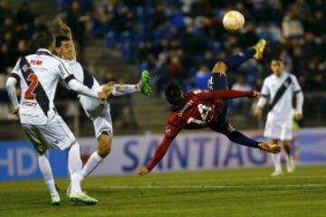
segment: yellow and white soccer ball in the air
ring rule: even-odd
[[[245,25],[245,17],[238,11],[229,11],[223,17],[223,25],[226,30],[240,30]]]

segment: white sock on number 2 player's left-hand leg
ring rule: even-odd
[[[38,156],[39,167],[43,174],[44,183],[50,190],[51,194],[59,194],[55,189],[53,172],[51,169],[50,161],[49,161],[49,153],[46,152],[43,156]]]

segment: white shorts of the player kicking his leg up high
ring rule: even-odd
[[[94,126],[95,137],[100,137],[102,132],[113,136],[112,118],[110,116],[110,104],[107,101],[80,96],[82,109]]]

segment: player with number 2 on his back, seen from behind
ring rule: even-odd
[[[72,202],[94,204],[97,201],[82,192],[77,179],[82,169],[80,146],[71,129],[62,120],[53,105],[55,90],[59,80],[65,80],[69,87],[79,94],[106,99],[103,91],[95,91],[75,80],[70,67],[62,59],[53,55],[54,38],[52,33],[39,33],[35,40],[37,52],[22,57],[15,64],[14,70],[6,82],[6,89],[14,106],[14,115],[20,122],[38,153],[39,167],[45,184],[50,190],[53,205],[60,204],[53,172],[49,161],[49,148],[66,149],[68,169],[72,180]],[[15,93],[15,84],[19,83],[22,91],[20,102]]]

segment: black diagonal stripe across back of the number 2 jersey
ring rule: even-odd
[[[28,76],[30,74],[33,74],[34,71],[31,69],[30,64],[28,63],[28,61],[26,60],[26,58],[22,58],[20,63],[19,63],[19,67],[22,71],[24,80],[26,81],[27,85],[31,85],[32,81],[28,80]],[[48,99],[45,90],[43,89],[43,86],[40,82],[38,82],[35,90],[35,99],[37,101],[37,103],[40,105],[41,109],[43,110],[45,116],[47,116],[47,113],[50,109],[50,100]]]

